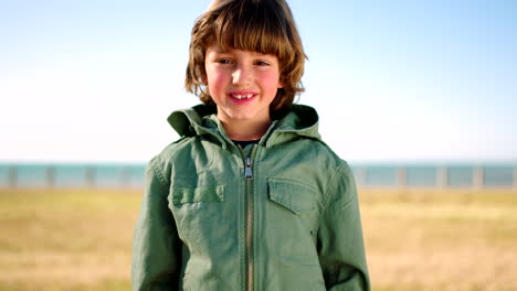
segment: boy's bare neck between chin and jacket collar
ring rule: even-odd
[[[264,121],[232,120],[231,122],[220,120],[228,137],[239,141],[260,140],[271,125],[271,119]]]

